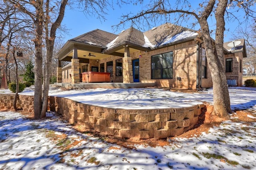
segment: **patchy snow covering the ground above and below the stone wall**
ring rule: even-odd
[[[256,88],[231,87],[229,92],[233,110],[256,111]],[[10,91],[0,90],[0,93]],[[21,94],[33,95],[34,91],[26,89]],[[212,89],[188,94],[150,88],[69,91],[51,88],[50,95],[129,109],[212,103]],[[47,113],[47,119],[30,120],[18,112],[2,111],[0,169],[256,169],[255,127],[256,123],[224,121],[200,136],[168,139],[166,146],[134,143],[129,148],[110,143],[107,137],[78,132],[53,112]]]

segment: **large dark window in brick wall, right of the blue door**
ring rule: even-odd
[[[172,51],[151,56],[151,79],[172,79]]]

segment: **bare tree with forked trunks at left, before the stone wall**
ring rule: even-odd
[[[48,104],[48,91],[50,82],[50,72],[56,31],[64,17],[64,12],[68,0],[6,0],[13,4],[23,14],[26,14],[33,21],[34,31],[34,49],[35,49],[35,94],[34,94],[34,117],[40,119],[46,116]],[[69,1],[72,5],[76,1]],[[79,5],[84,8],[87,14],[105,14],[107,9],[107,0],[79,0]],[[42,81],[43,55],[42,47],[46,45],[46,71],[44,82]],[[43,83],[42,83],[43,82]]]

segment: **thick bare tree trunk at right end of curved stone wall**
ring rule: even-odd
[[[222,16],[224,17],[224,16]],[[230,120],[229,113],[232,113],[230,109],[230,98],[228,93],[227,80],[224,70],[224,55],[223,55],[223,38],[221,41],[217,41],[216,53],[212,39],[210,37],[210,30],[207,23],[207,18],[201,17],[199,24],[202,28],[202,37],[206,48],[206,57],[209,65],[209,69],[212,75],[213,81],[213,105],[214,111],[212,113],[212,120],[214,122],[220,122]],[[218,25],[224,27],[224,25]],[[223,29],[223,28],[220,28]],[[220,37],[218,37],[220,39]],[[221,47],[220,47],[221,46]],[[220,49],[221,48],[221,49]],[[220,54],[222,53],[222,54]],[[218,54],[220,56],[218,56]],[[217,116],[217,117],[214,117]],[[219,118],[219,119],[215,119]]]

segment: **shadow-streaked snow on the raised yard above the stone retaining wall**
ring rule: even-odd
[[[0,90],[0,93],[10,91]],[[229,87],[231,109],[244,110],[256,105],[256,88]],[[31,89],[25,89],[23,95],[34,95]],[[180,93],[164,91],[163,89],[140,88],[140,89],[79,89],[61,90],[52,88],[50,96],[65,97],[100,107],[115,109],[164,109],[190,107],[208,102],[213,104],[213,90],[207,89],[201,93]]]

